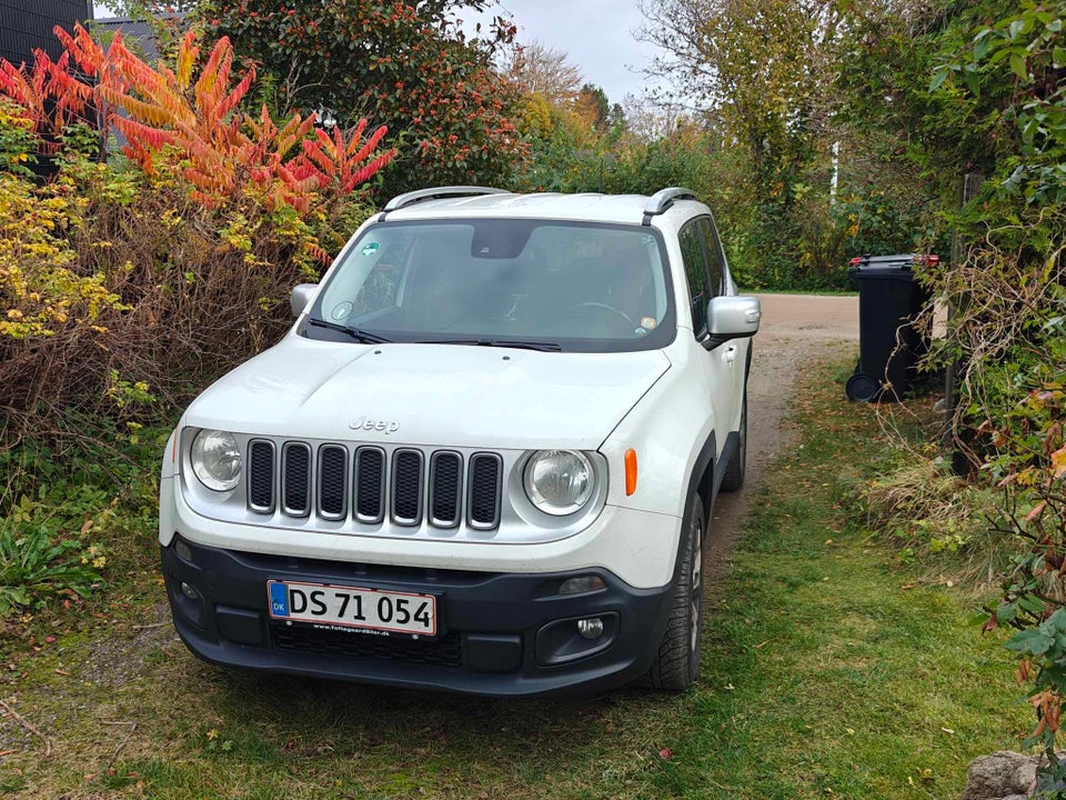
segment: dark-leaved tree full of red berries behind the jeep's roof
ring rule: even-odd
[[[467,40],[454,12],[486,0],[302,2],[207,0],[212,36],[259,64],[285,112],[326,112],[342,128],[365,117],[399,149],[382,193],[436,183],[506,183],[523,152],[514,96],[491,67],[513,26],[496,19]]]

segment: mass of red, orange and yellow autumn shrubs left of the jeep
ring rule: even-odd
[[[60,37],[68,54],[47,69],[0,67],[0,153],[21,163],[26,133],[42,149],[49,131],[59,164],[44,186],[0,172],[9,443],[152,416],[271,343],[291,287],[365,217],[359,191],[394,154],[365,122],[326,133],[313,117],[240,112],[254,73],[232,78],[228,40],[198,69],[190,32],[173,68],[152,69],[120,37],[107,51],[81,28]],[[90,94],[71,63],[95,78]],[[129,161],[94,160],[99,140],[71,122],[90,113],[123,134]]]

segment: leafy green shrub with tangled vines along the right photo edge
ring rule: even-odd
[[[1022,3],[946,52],[929,84],[975,109],[1000,106],[967,120],[971,132],[990,129],[994,172],[959,219],[975,242],[965,260],[932,276],[954,311],[933,358],[958,366],[956,438],[1003,491],[997,533],[1015,562],[986,628],[1018,629],[1007,647],[1038,717],[1027,743],[1049,764],[1038,797],[1058,797],[1044,788],[1066,779],[1055,756],[1066,696],[1064,22],[1066,3]]]

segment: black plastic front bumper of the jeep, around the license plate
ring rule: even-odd
[[[180,553],[179,553],[180,551]],[[174,627],[213,663],[316,678],[523,696],[601,691],[642,676],[662,639],[670,584],[636,589],[603,569],[494,573],[346,563],[223,550],[174,537],[161,548]],[[559,594],[564,580],[605,588]],[[434,594],[434,639],[319,631],[272,621],[268,580]],[[190,598],[182,583],[194,589]],[[577,632],[599,617],[604,633]]]

